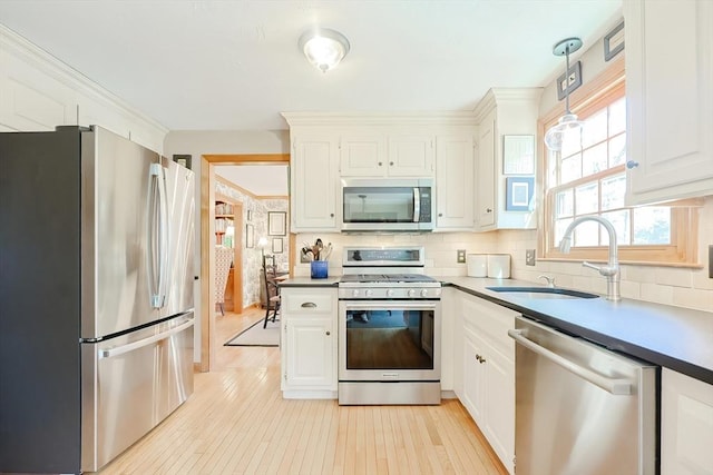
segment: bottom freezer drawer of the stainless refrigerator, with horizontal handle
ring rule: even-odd
[[[81,344],[81,468],[96,472],[193,393],[193,313]]]

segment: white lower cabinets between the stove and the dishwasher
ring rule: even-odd
[[[509,473],[515,473],[515,328],[517,313],[458,293],[453,387]],[[462,321],[462,323],[461,323]],[[460,325],[460,328],[459,328]],[[461,335],[459,337],[458,335]]]

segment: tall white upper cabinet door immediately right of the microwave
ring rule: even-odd
[[[472,136],[438,137],[436,142],[436,227],[471,229],[473,226]]]

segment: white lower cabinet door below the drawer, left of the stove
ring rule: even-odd
[[[331,318],[292,317],[284,325],[285,389],[335,389]]]

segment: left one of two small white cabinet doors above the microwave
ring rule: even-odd
[[[387,174],[384,141],[381,136],[342,136],[342,177],[383,177]]]

